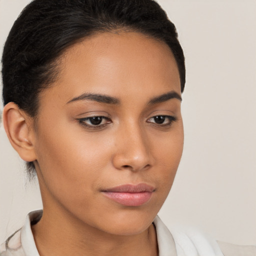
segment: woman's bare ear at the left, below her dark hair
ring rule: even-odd
[[[7,103],[2,112],[5,132],[12,147],[24,161],[36,159],[32,119],[14,102]]]

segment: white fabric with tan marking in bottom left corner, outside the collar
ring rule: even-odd
[[[13,233],[4,243],[0,245],[0,256],[24,256],[21,246],[20,229]]]

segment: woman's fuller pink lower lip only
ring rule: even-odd
[[[144,191],[138,193],[127,193],[104,191],[103,194],[122,205],[139,206],[146,203],[150,199],[152,192]]]

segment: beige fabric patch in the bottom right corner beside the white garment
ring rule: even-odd
[[[255,256],[256,245],[236,245],[217,241],[224,256]]]

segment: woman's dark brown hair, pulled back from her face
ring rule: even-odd
[[[35,117],[38,93],[57,79],[61,53],[93,33],[115,30],[137,31],[165,42],[176,60],[183,91],[183,51],[174,24],[155,1],[33,0],[14,22],[4,45],[4,105],[13,101]],[[28,172],[33,168],[28,162]]]

